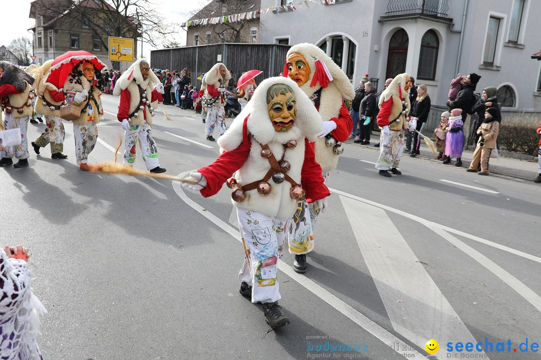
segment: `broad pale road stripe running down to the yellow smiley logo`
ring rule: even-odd
[[[431,338],[476,343],[385,210],[345,196],[340,200],[394,330],[420,348]]]

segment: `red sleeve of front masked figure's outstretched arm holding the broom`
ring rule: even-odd
[[[235,150],[223,152],[212,164],[197,170],[207,179],[207,186],[201,190],[201,195],[208,198],[219,192],[223,183],[246,162],[251,145],[249,140],[242,141]]]

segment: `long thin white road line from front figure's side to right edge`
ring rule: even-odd
[[[348,194],[348,193],[342,192],[342,191],[337,190],[337,189],[329,188],[329,191],[331,191],[332,193],[339,194],[339,195],[344,195],[344,196],[346,196],[347,198],[350,198],[350,199],[362,201],[362,202],[367,203],[369,205],[379,207],[381,209],[393,212],[395,214],[405,216],[408,219],[420,222],[421,224],[425,225],[426,227],[430,227],[430,226],[438,227],[440,229],[445,230],[446,232],[453,233],[453,234],[460,235],[460,236],[464,236],[464,237],[467,237],[467,239],[471,239],[471,240],[483,243],[485,245],[492,246],[494,248],[503,250],[503,251],[505,251],[507,253],[518,255],[518,256],[524,257],[525,259],[529,259],[529,260],[533,260],[535,262],[541,263],[541,257],[531,255],[531,254],[528,254],[528,253],[524,253],[524,252],[521,252],[520,250],[516,250],[516,249],[510,248],[510,247],[504,246],[502,244],[498,244],[498,243],[493,242],[493,241],[485,240],[485,239],[482,239],[481,237],[478,237],[478,236],[475,236],[475,235],[470,235],[470,234],[462,232],[460,230],[456,230],[456,229],[453,229],[453,228],[450,228],[450,227],[447,227],[447,226],[444,226],[444,225],[440,225],[440,224],[438,224],[436,222],[432,222],[432,221],[425,220],[423,218],[419,218],[419,216],[415,216],[415,215],[406,213],[406,212],[404,212],[402,210],[398,210],[398,209],[392,208],[390,206],[382,205],[382,204],[377,203],[375,201],[363,199],[363,198],[360,198],[359,196]]]

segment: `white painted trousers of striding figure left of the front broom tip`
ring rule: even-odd
[[[147,170],[160,166],[156,142],[152,138],[151,127],[145,121],[143,125],[130,126],[124,132],[124,165],[135,162],[135,144],[139,144],[144,165]]]

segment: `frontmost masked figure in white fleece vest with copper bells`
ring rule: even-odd
[[[319,119],[319,121],[318,121]],[[245,260],[240,293],[263,303],[273,327],[289,324],[278,300],[278,258],[286,221],[299,200],[319,202],[329,195],[309,140],[321,130],[321,118],[291,79],[269,78],[218,140],[223,150],[209,166],[190,173],[197,185],[183,184],[205,197],[233,188]]]

